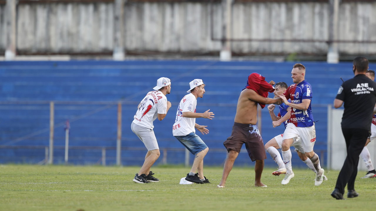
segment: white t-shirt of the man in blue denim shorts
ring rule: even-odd
[[[192,93],[185,95],[180,101],[177,107],[175,123],[172,126],[172,134],[174,136],[186,136],[190,133],[196,133],[194,128],[196,118],[183,117],[183,112],[196,113],[196,105],[197,99]]]

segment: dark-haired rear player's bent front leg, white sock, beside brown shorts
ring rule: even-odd
[[[274,137],[273,139],[268,141],[268,143],[265,144],[266,151],[270,154],[270,157],[278,165],[278,169],[272,173],[273,175],[276,175],[276,176],[286,173],[285,164],[282,160],[281,155],[279,154],[277,150],[281,148],[281,144],[282,144],[282,134]]]

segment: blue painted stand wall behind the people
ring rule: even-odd
[[[353,77],[352,63],[327,64],[302,62],[306,66],[306,80],[313,89],[312,109],[316,123],[315,151],[326,164],[327,105],[332,104],[340,77]],[[0,62],[0,145],[48,146],[49,104],[6,104],[10,101],[57,101],[55,105],[55,145],[64,146],[64,122],[71,122],[70,146],[116,146],[117,105],[61,104],[61,101],[123,102],[122,146],[143,147],[130,130],[136,107],[144,95],[152,90],[159,77],[172,81],[167,99],[172,107],[163,121],[155,121],[155,134],[161,148],[183,149],[172,136],[177,104],[186,95],[188,83],[203,79],[206,93],[197,100],[197,112],[211,109],[213,120],[197,119],[208,125],[210,133],[201,135],[209,146],[205,164],[222,165],[226,158],[223,141],[231,134],[236,103],[247,77],[258,72],[266,80],[292,84],[293,62],[218,62],[218,61],[70,61],[70,62]],[[370,64],[370,68],[372,68]],[[273,97],[273,93],[269,95]],[[277,113],[277,111],[276,111]],[[283,126],[273,128],[268,110],[262,109],[262,137],[264,143],[283,133]],[[55,149],[55,163],[64,162],[64,150]],[[106,152],[107,164],[115,163],[115,150]],[[122,152],[123,165],[141,165],[146,150]],[[72,149],[74,164],[100,164],[101,151]],[[162,162],[163,153],[157,163]],[[0,149],[0,163],[37,163],[44,158],[44,149]],[[293,154],[293,165],[305,166]],[[167,162],[184,162],[183,151],[168,151]],[[275,166],[268,156],[265,163]],[[239,166],[253,165],[246,153],[241,153]]]

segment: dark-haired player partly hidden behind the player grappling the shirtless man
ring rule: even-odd
[[[282,93],[285,92],[287,89],[287,84],[285,82],[279,82],[276,83],[274,86],[274,97],[278,97]],[[288,99],[288,102],[291,100]],[[270,104],[268,106],[269,114],[271,119],[273,120],[273,127],[279,126],[282,122],[285,125],[285,128],[287,127],[288,119],[290,118],[290,107],[286,105],[285,103],[282,103],[279,105],[279,113],[276,116],[274,114],[274,104]],[[286,174],[287,169],[285,167],[285,163],[282,160],[281,155],[279,154],[277,149],[282,148],[282,140],[283,140],[284,134],[280,134],[273,139],[271,139],[268,143],[265,144],[266,151],[270,154],[271,158],[277,163],[278,169],[274,171],[273,175],[280,175],[280,174]],[[295,151],[297,152],[299,158],[313,171],[316,173],[315,167],[312,164],[312,161],[308,159],[308,157],[304,154],[304,149],[302,146],[302,142],[300,141],[300,137],[294,138],[294,142],[292,143],[292,146],[294,146]],[[326,177],[324,177],[326,179]],[[287,182],[288,183],[288,182]],[[286,184],[287,184],[286,183]],[[285,184],[284,184],[285,185]]]

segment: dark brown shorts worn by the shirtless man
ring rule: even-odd
[[[262,142],[257,125],[247,125],[234,122],[231,136],[223,142],[227,151],[240,152],[243,143],[246,144],[246,149],[252,161],[266,159],[264,149],[264,142]]]

